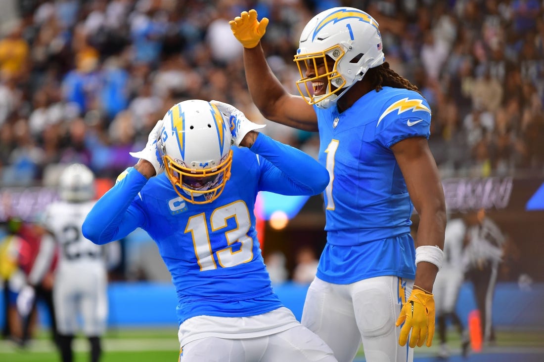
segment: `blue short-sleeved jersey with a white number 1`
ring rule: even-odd
[[[429,104],[415,91],[384,87],[343,113],[314,109],[319,161],[330,173],[324,192],[327,245],[318,277],[339,284],[384,275],[413,279],[413,205],[391,146],[429,138]]]

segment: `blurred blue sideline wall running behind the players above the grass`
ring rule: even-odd
[[[275,285],[283,304],[300,321],[308,286],[296,283]],[[176,291],[169,283],[111,283],[109,285],[108,328],[177,328]],[[498,329],[544,330],[544,283],[520,289],[517,283],[498,283],[493,299],[493,322]],[[0,302],[1,305],[2,302]],[[463,284],[457,311],[463,321],[476,308],[471,283]],[[3,309],[3,305],[2,305]],[[44,305],[39,304],[39,320],[50,323]],[[4,316],[0,316],[4,323]]]

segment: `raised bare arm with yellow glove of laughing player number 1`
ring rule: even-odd
[[[244,11],[230,21],[232,33],[244,46],[245,77],[253,102],[268,120],[317,131],[317,116],[301,96],[286,91],[276,78],[261,47],[268,19],[257,21],[257,11]]]

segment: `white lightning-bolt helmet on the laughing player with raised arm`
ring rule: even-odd
[[[327,64],[327,55],[334,61],[332,66]],[[300,72],[296,87],[302,98],[308,104],[329,108],[363,79],[369,68],[384,63],[378,22],[356,8],[322,11],[302,30],[294,61]],[[325,73],[318,74],[318,67],[323,64]],[[314,94],[316,90],[318,94]]]

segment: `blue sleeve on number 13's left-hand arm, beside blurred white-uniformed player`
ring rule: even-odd
[[[131,168],[125,178],[98,199],[86,216],[82,225],[85,238],[102,245],[122,239],[135,228],[142,227],[145,213],[133,201],[146,183],[143,174]]]

